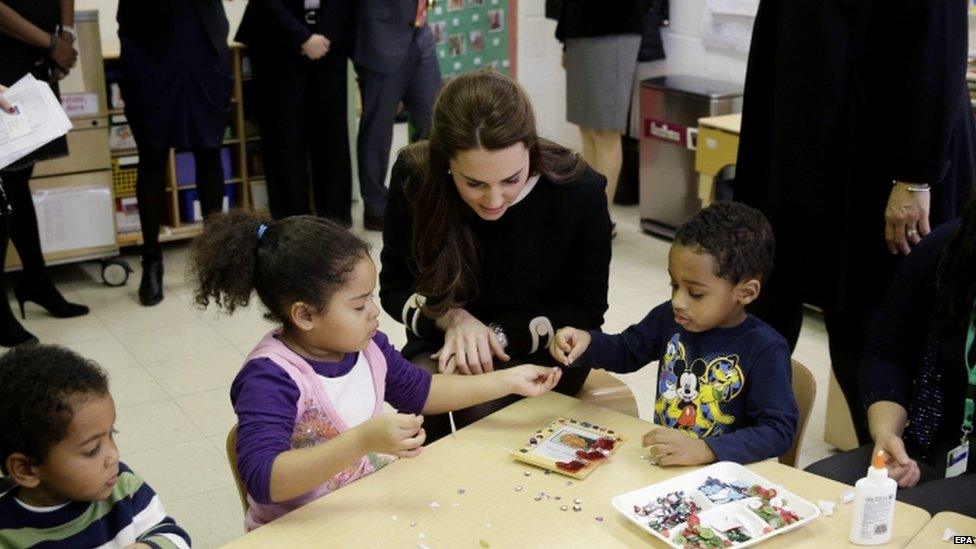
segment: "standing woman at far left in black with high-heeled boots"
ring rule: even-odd
[[[42,82],[50,82],[57,95],[57,81],[68,74],[78,57],[72,47],[74,19],[73,0],[0,2],[0,89],[32,74]],[[0,345],[4,347],[37,341],[14,318],[7,300],[2,262],[7,257],[8,240],[13,241],[24,266],[23,275],[14,286],[21,317],[27,301],[37,303],[59,318],[88,314],[88,307],[66,301],[51,281],[41,253],[37,213],[29,185],[34,162],[66,154],[68,143],[62,137],[0,171],[2,189],[10,204],[9,213],[3,211],[4,215],[0,216]]]

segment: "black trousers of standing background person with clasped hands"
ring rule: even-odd
[[[346,117],[346,57],[311,61],[253,51],[257,118],[271,215],[315,213],[352,224],[352,162]]]

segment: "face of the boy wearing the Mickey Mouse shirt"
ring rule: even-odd
[[[689,332],[731,328],[745,319],[745,306],[759,295],[759,281],[732,284],[715,276],[715,258],[675,244],[668,253],[674,321]]]

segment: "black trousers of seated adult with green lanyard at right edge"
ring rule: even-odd
[[[853,486],[858,479],[867,474],[873,450],[873,444],[866,444],[849,452],[820,460],[806,470]],[[915,486],[898,489],[898,501],[921,507],[933,515],[952,511],[976,517],[976,475],[970,473],[955,478],[945,478],[944,465],[933,467],[916,456],[911,457],[918,462],[922,476]]]

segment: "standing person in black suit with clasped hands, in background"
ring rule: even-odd
[[[276,219],[315,211],[352,226],[346,116],[348,0],[251,0],[237,31],[257,88],[268,203]]]

